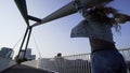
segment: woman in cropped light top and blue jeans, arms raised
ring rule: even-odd
[[[121,54],[115,47],[110,28],[130,21],[130,16],[113,8],[82,9],[84,19],[72,31],[72,38],[89,38],[92,52],[92,73],[127,73]]]

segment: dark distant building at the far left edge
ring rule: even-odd
[[[2,47],[0,50],[0,57],[12,59],[14,55],[14,50],[9,47]]]

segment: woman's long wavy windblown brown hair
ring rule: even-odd
[[[114,26],[116,31],[119,32],[120,26],[116,21],[116,18],[114,17],[115,14],[117,14],[118,11],[114,8],[93,8],[89,11],[89,14],[92,16],[92,19],[98,20],[100,23],[108,23],[110,26]],[[110,17],[108,15],[112,15]]]

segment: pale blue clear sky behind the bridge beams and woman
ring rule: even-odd
[[[72,0],[26,0],[28,14],[38,18],[43,18]],[[119,12],[130,15],[130,0],[115,0],[108,4]],[[88,38],[70,38],[72,29],[82,19],[79,13],[37,26],[32,29],[28,47],[37,57],[38,50],[43,58],[54,57],[57,53],[63,56],[90,53]],[[34,23],[30,21],[32,25]],[[130,47],[130,23],[120,24],[121,33],[113,30],[116,47]],[[0,0],[0,48],[11,47],[15,55],[20,50],[26,23],[23,19],[14,0]],[[35,40],[34,40],[35,39]],[[18,42],[18,40],[21,40]],[[37,44],[35,43],[37,42]],[[17,43],[18,42],[18,43]],[[16,44],[17,43],[17,44]],[[16,45],[15,45],[16,44]]]

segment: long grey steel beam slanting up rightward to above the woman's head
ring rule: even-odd
[[[94,6],[94,5],[102,4],[102,3],[110,2],[113,0],[80,0],[80,1],[84,6],[91,8],[91,6]],[[64,16],[70,15],[70,14],[74,14],[76,12],[77,12],[77,9],[74,5],[74,2],[72,1],[68,4],[66,4],[65,6],[61,8],[60,10],[57,10],[54,13],[52,13],[52,14],[48,15],[47,17],[44,17],[41,20],[41,23],[36,23],[31,27],[39,26],[41,24],[44,24],[44,23],[48,23],[48,21],[64,17]]]

